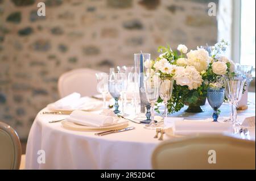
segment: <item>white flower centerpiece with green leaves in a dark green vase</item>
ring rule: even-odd
[[[227,45],[228,43],[221,41],[214,47],[197,47],[189,52],[185,45],[179,45],[176,51],[172,51],[170,46],[159,47],[158,51],[162,54],[144,64],[147,69],[174,79],[168,112],[180,111],[184,105],[189,106],[187,112],[202,111],[200,106],[205,103],[208,87],[221,87],[218,79],[235,71],[234,62],[221,56]],[[163,100],[159,98],[158,103],[161,102]]]

